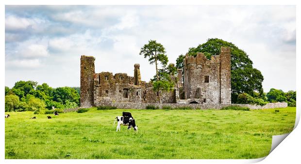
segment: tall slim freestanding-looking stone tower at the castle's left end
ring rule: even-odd
[[[81,107],[94,105],[94,60],[92,56],[81,56]]]

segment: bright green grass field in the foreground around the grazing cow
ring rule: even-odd
[[[293,130],[296,107],[234,110],[97,110],[47,119],[9,112],[5,159],[251,159],[268,155],[272,135]],[[113,125],[131,112],[138,132]],[[6,113],[7,114],[7,113]],[[36,116],[37,119],[29,119]]]

